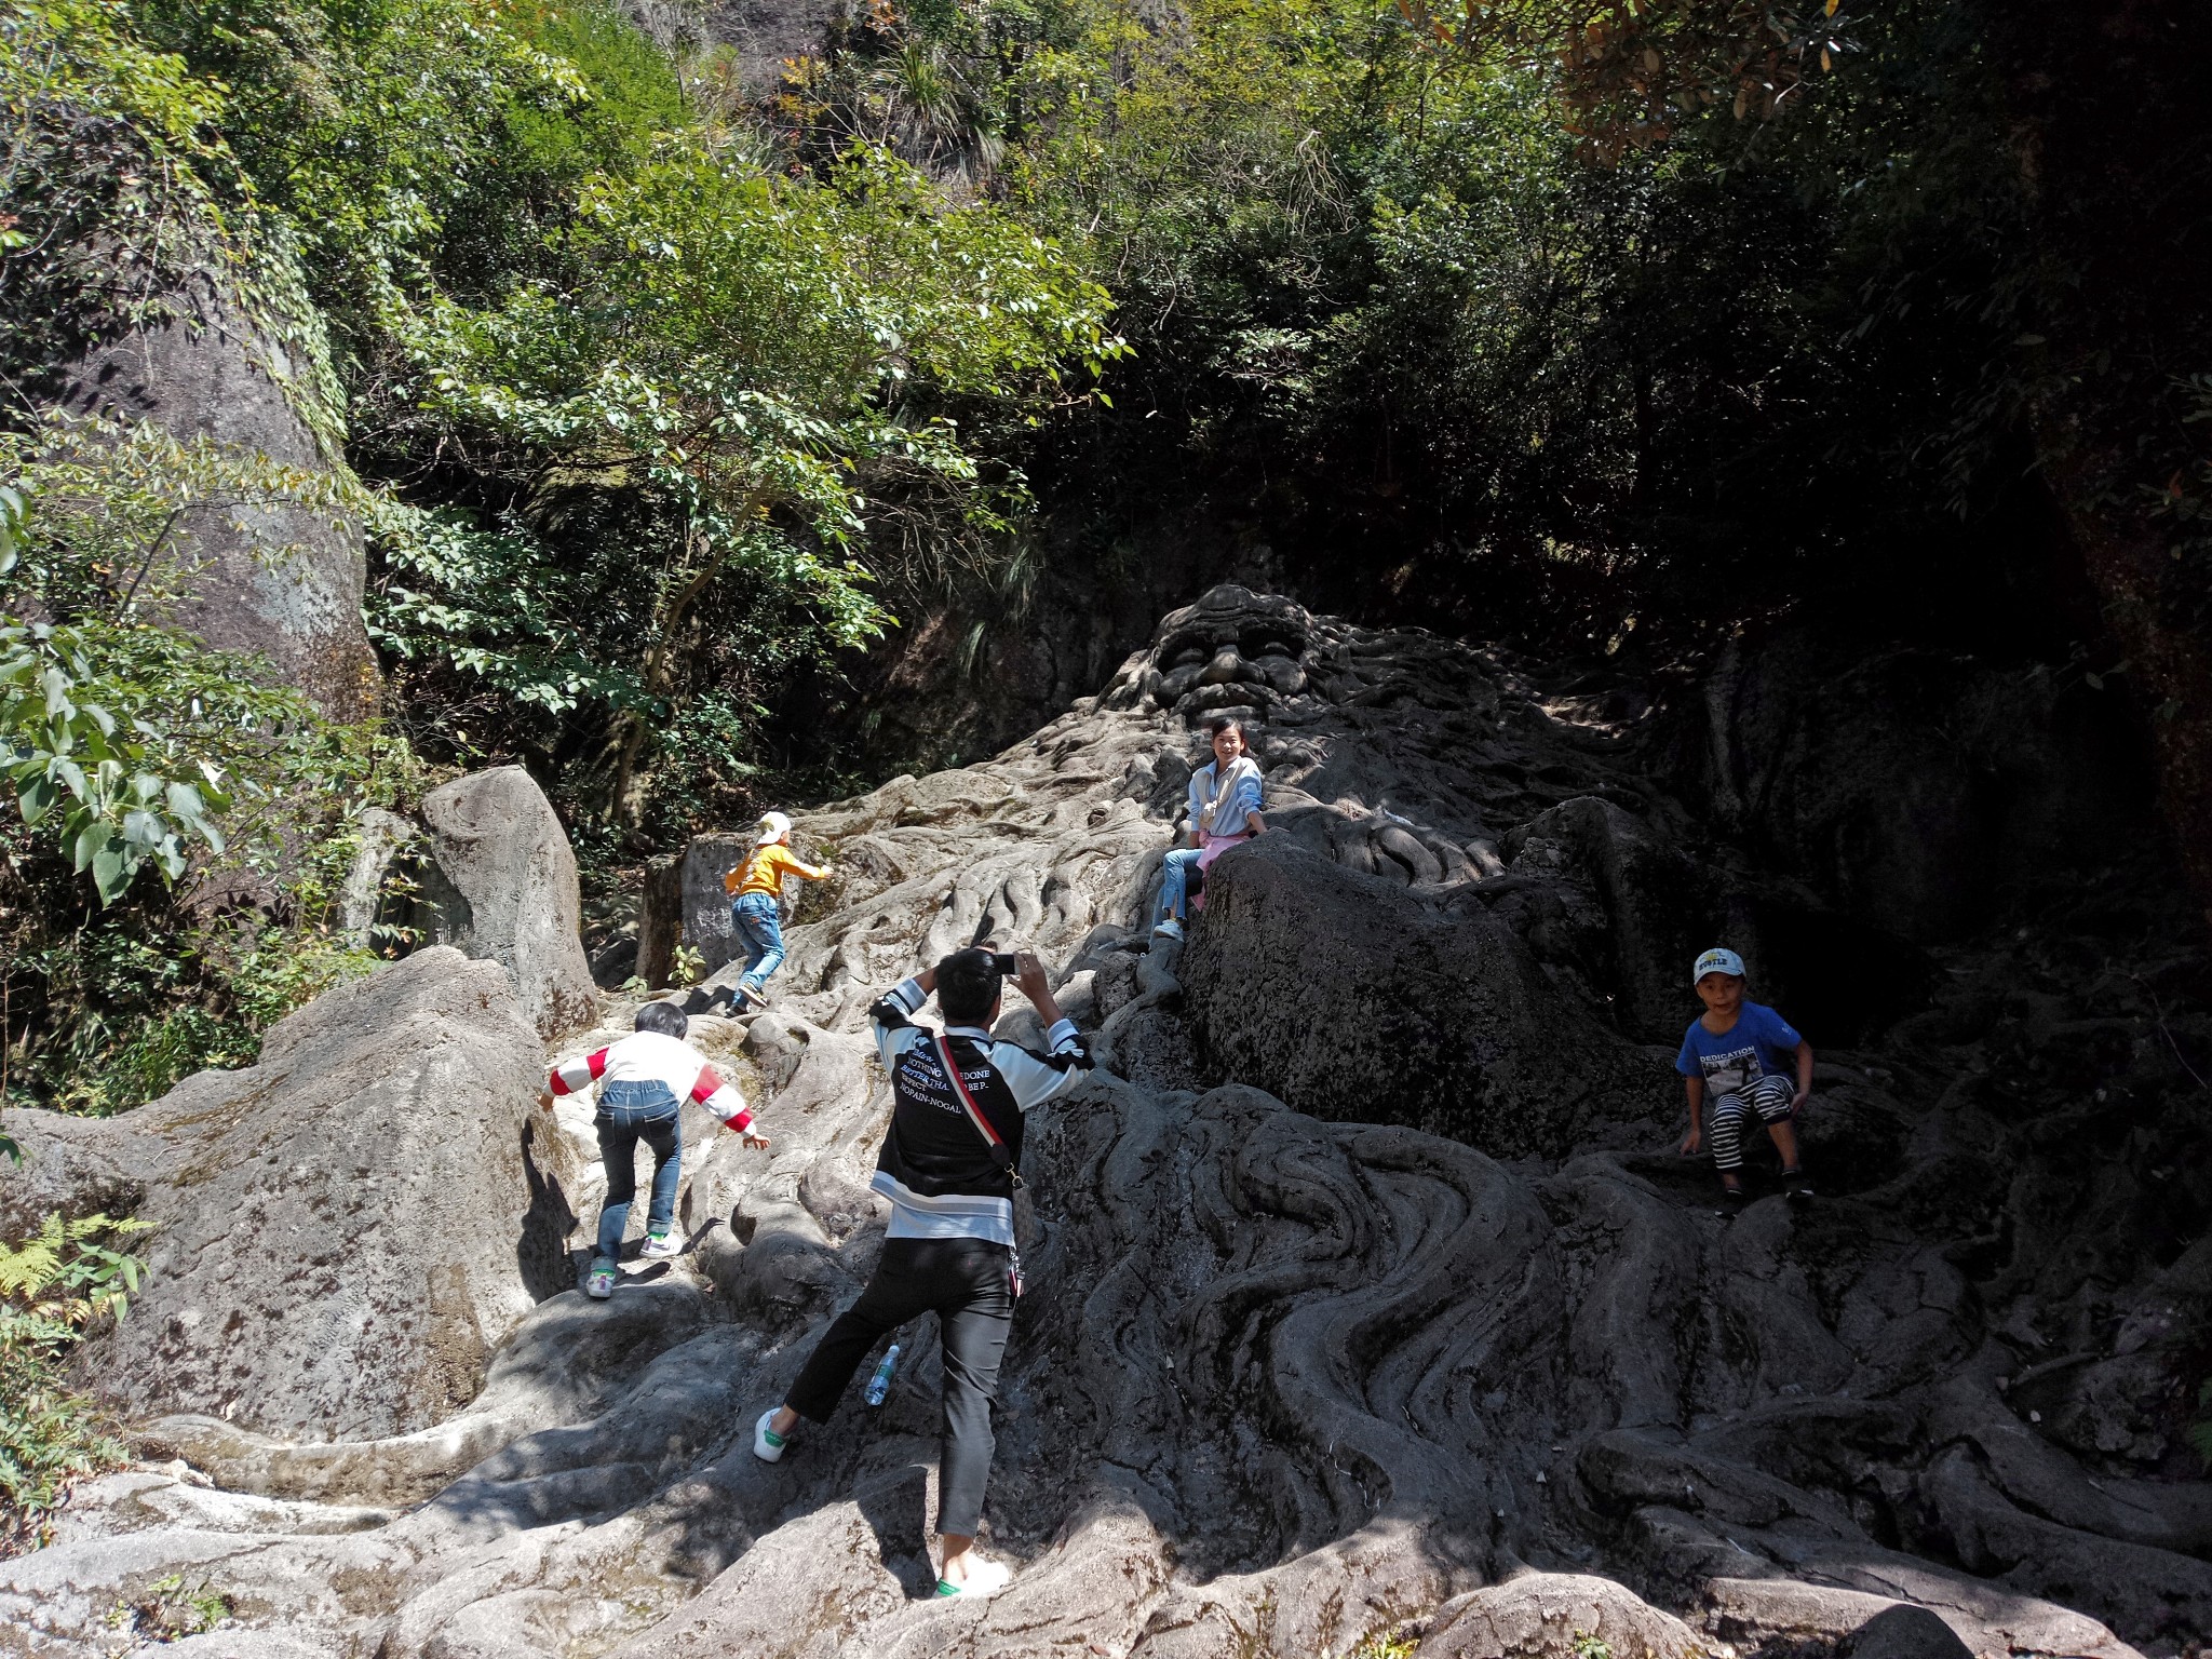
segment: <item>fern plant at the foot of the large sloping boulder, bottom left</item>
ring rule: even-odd
[[[38,1548],[69,1482],[122,1462],[88,1400],[62,1380],[69,1347],[119,1321],[146,1265],[117,1241],[144,1221],[46,1217],[35,1237],[0,1243],[0,1555]]]

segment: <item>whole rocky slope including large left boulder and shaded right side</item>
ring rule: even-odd
[[[1256,717],[1276,832],[1152,947],[1219,708]],[[529,887],[469,891],[498,925],[133,1117],[15,1115],[4,1219],[161,1230],[82,1358],[148,1460],[0,1564],[0,1652],[111,1652],[179,1586],[230,1617],[173,1652],[241,1659],[2117,1659],[2212,1630],[2212,1022],[2081,688],[1825,677],[1781,641],[1655,708],[1217,588],[1004,754],[801,816],[841,880],[774,1006],[730,1018],[726,962],[690,991],[774,1148],[688,1121],[690,1252],[604,1305],[573,1290],[588,1106],[531,1099],[575,962],[513,947],[573,867],[511,790],[431,825],[458,887]],[[686,883],[710,964],[717,860]],[[931,1332],[880,1411],[776,1467],[748,1436],[878,1248],[863,1011],[987,916],[1108,1071],[1029,1139],[1046,1241],[987,1515],[1020,1571],[938,1606]],[[1820,1053],[1809,1210],[1767,1155],[1723,1223],[1672,1152],[1714,938]]]

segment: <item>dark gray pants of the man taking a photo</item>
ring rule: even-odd
[[[836,1316],[783,1402],[827,1422],[876,1338],[936,1314],[945,1345],[945,1440],[938,1451],[938,1531],[973,1537],[991,1480],[991,1400],[1013,1327],[1006,1245],[982,1239],[885,1239],[860,1301]]]

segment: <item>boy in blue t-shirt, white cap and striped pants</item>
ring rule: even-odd
[[[1792,1119],[1812,1093],[1812,1044],[1763,1002],[1743,1000],[1743,958],[1712,949],[1690,969],[1705,1013],[1690,1022],[1674,1055],[1674,1071],[1690,1091],[1690,1137],[1683,1155],[1694,1157],[1712,1133],[1712,1164],[1721,1170],[1721,1214],[1743,1210],[1743,1130],[1756,1115],[1783,1155],[1783,1183],[1792,1203],[1812,1199],[1812,1181],[1798,1168]],[[1796,1062],[1796,1086],[1787,1060]]]

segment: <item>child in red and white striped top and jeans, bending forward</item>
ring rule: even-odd
[[[599,1086],[593,1126],[599,1130],[599,1159],[606,1164],[606,1203],[599,1208],[599,1241],[584,1276],[584,1294],[615,1294],[622,1234],[637,1199],[637,1144],[653,1148],[653,1201],[646,1208],[646,1256],[684,1252],[675,1237],[677,1177],[684,1172],[684,1099],[706,1106],[714,1117],[745,1137],[745,1146],[768,1148],[768,1137],[752,1126],[752,1113],[737,1086],[726,1082],[697,1048],[684,1042],[690,1020],[672,1002],[648,1002],[637,1011],[637,1033],[611,1042],[553,1068],[540,1106],[551,1108],[555,1095]]]

